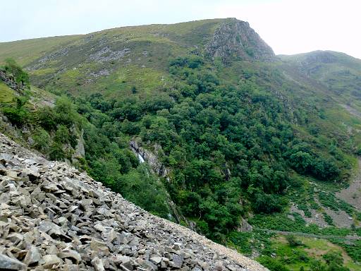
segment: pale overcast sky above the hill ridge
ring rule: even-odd
[[[247,20],[276,54],[361,59],[361,0],[0,0],[0,42],[206,18]]]

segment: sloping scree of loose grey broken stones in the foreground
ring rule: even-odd
[[[267,270],[0,134],[0,270]]]

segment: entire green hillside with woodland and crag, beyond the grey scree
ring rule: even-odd
[[[7,57],[30,75],[0,85],[12,138],[270,270],[361,270],[360,60],[276,56],[235,18],[0,43],[12,76]]]

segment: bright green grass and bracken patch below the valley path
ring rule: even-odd
[[[245,255],[255,251],[257,258],[271,271],[278,270],[361,270],[343,251],[342,246],[324,239],[281,236],[263,231],[232,232],[228,244]]]

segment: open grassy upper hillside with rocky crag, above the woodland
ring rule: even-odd
[[[18,47],[19,42],[2,43],[0,61],[6,57],[20,61],[39,87],[116,97],[130,95],[134,86],[142,90],[142,96],[168,88],[169,58],[176,56],[192,53],[224,60],[274,59],[272,49],[250,25],[235,19],[114,28],[59,39],[20,42],[25,49]],[[37,44],[42,44],[42,51]],[[32,58],[28,57],[34,48]]]

